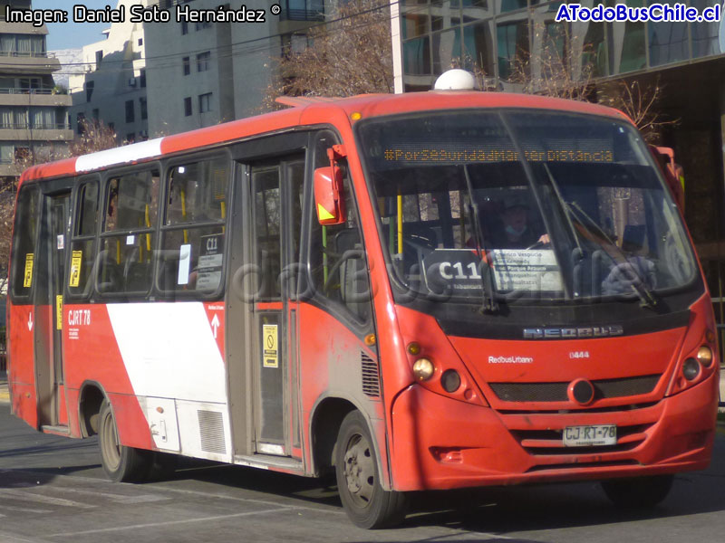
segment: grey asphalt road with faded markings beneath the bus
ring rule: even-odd
[[[724,454],[719,433],[710,469],[678,476],[648,512],[616,510],[593,482],[430,492],[400,528],[366,531],[333,487],[294,476],[184,462],[168,481],[111,483],[94,440],[35,433],[0,405],[0,543],[720,542]]]

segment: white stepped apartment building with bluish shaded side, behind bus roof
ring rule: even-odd
[[[69,80],[71,122],[79,135],[84,121],[102,121],[119,143],[149,137],[144,28],[129,16],[129,7],[140,4],[145,0],[120,0],[117,7],[125,6],[126,20],[111,24],[102,41],[83,47],[83,72]]]

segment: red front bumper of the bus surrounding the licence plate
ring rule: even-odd
[[[509,410],[471,405],[421,386],[392,408],[392,488],[452,489],[576,481],[701,470],[714,440],[719,376],[647,405],[597,412]],[[618,443],[562,447],[566,426],[616,424]]]

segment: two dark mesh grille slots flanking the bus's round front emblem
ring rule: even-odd
[[[649,394],[657,386],[660,375],[600,379],[592,381],[594,399],[621,398]],[[570,383],[489,383],[503,402],[567,402]]]

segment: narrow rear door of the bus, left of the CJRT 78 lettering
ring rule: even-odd
[[[38,421],[44,427],[68,424],[63,388],[63,283],[70,193],[45,196],[35,292],[35,379]]]

